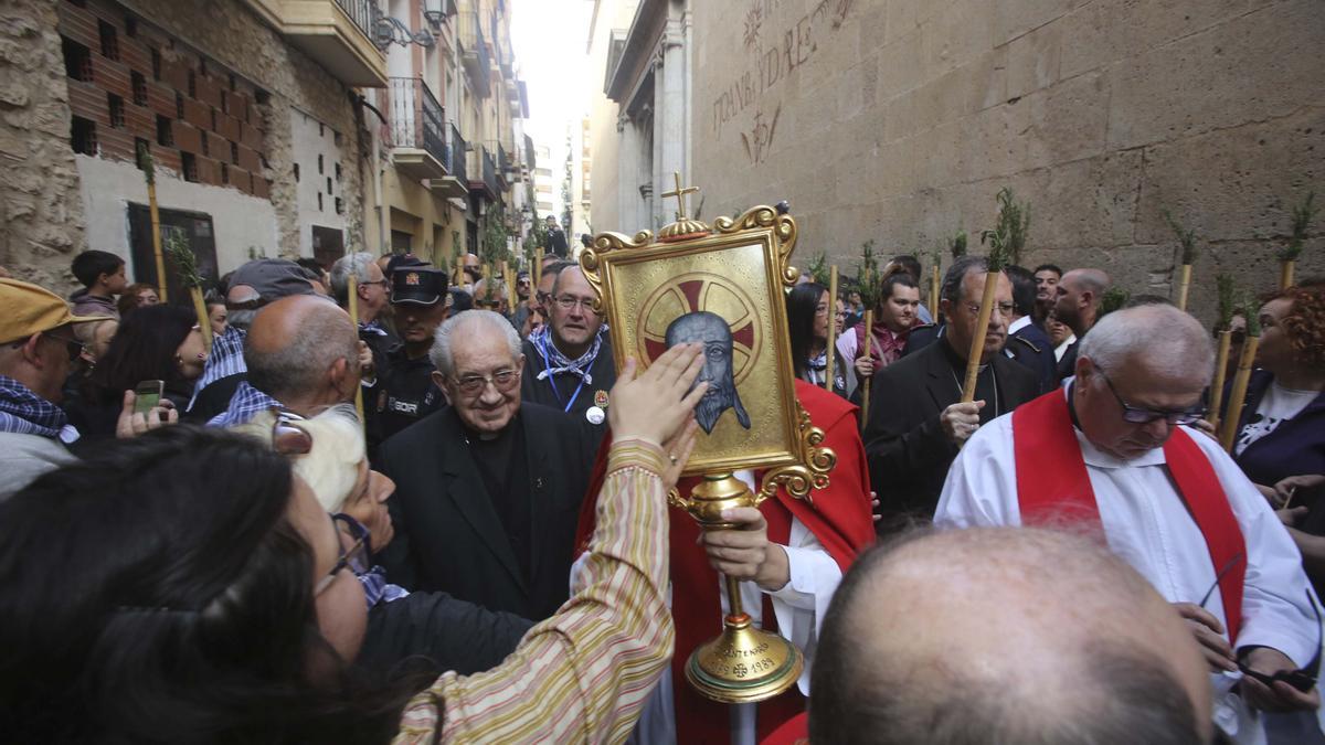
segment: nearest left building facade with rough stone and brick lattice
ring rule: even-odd
[[[0,64],[0,264],[69,286],[86,248],[155,281],[163,235],[208,274],[363,245],[360,109],[386,85],[368,0],[20,0]]]

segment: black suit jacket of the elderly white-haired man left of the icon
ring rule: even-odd
[[[379,469],[396,483],[388,502],[396,537],[380,555],[388,581],[534,620],[566,602],[596,443],[570,416],[538,404],[522,404],[513,426],[525,428],[535,526],[530,579],[448,407],[382,444]]]

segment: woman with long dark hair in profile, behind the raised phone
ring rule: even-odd
[[[203,334],[191,309],[144,305],[121,321],[78,403],[70,407],[69,422],[87,441],[113,437],[125,391],[143,380],[162,380],[163,402],[184,411],[205,362]]]

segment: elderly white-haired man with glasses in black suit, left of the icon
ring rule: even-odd
[[[494,611],[550,616],[568,597],[587,432],[521,400],[525,357],[510,322],[468,310],[437,329],[433,380],[450,404],[383,443],[396,484],[387,578]]]

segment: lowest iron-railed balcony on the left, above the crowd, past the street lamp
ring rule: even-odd
[[[421,78],[391,78],[392,160],[412,179],[441,179],[452,172],[447,148],[447,113]]]

